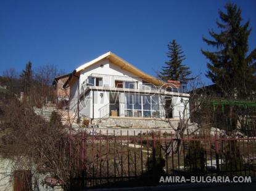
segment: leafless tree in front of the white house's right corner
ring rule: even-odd
[[[184,136],[189,136],[191,134],[196,133],[202,128],[210,127],[211,123],[196,123],[198,122],[198,119],[202,118],[203,115],[197,115],[200,111],[202,111],[202,107],[205,103],[207,103],[207,96],[205,94],[199,94],[197,92],[198,87],[204,87],[204,85],[200,82],[199,78],[194,79],[190,83],[189,88],[189,98],[185,99],[183,97],[180,97],[180,103],[176,103],[174,101],[174,96],[168,95],[166,93],[166,88],[170,88],[167,86],[163,86],[164,88],[160,89],[160,105],[162,109],[162,119],[164,122],[167,122],[169,127],[175,131],[174,138],[176,141],[173,142],[173,145],[168,147],[167,152],[169,154],[180,152],[181,149],[181,139],[184,138]],[[173,88],[173,85],[171,85],[171,88]],[[182,93],[180,93],[182,95]],[[169,104],[167,103],[167,100],[169,100]],[[181,106],[182,104],[183,106]],[[178,113],[178,125],[177,122],[170,118],[168,115],[170,112],[176,111]],[[204,113],[209,117],[210,111],[207,111]],[[207,118],[205,116],[205,118]]]

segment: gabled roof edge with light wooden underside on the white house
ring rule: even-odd
[[[146,80],[149,83],[155,84],[155,85],[162,85],[164,82],[162,80],[156,79],[155,77],[146,74],[145,72],[142,72],[140,69],[136,68],[132,64],[128,63],[127,61],[123,60],[122,58],[118,57],[112,52],[107,52],[101,55],[100,57],[95,58],[94,60],[89,61],[88,63],[85,63],[78,68],[76,68],[70,77],[68,77],[67,82],[63,85],[63,87],[68,87],[68,85],[72,85],[78,76],[80,76],[81,71],[84,71],[89,66],[92,66],[93,64],[96,64],[97,62],[104,60],[105,58],[109,59],[113,64],[119,66],[121,69],[124,69],[125,71],[130,72],[131,74],[134,74],[135,76],[138,76],[144,80]]]

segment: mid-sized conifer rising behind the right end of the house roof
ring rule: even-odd
[[[186,57],[183,55],[181,45],[177,44],[174,39],[168,44],[167,57],[170,60],[165,62],[165,66],[162,67],[162,71],[157,76],[165,81],[180,80],[182,84],[187,84],[192,79],[188,78],[191,71],[189,71],[188,66],[182,64]]]

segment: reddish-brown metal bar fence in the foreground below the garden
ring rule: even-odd
[[[255,177],[255,136],[204,131],[177,139],[166,131],[83,131],[71,140],[70,162],[78,169],[71,172],[74,188],[156,185],[170,175]]]

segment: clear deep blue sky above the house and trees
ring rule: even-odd
[[[0,1],[0,74],[56,64],[66,72],[112,51],[142,71],[155,75],[167,61],[172,39],[183,47],[196,76],[204,74],[207,49],[202,36],[216,29],[218,9],[227,1]],[[236,2],[250,20],[250,50],[256,47],[256,1]]]

